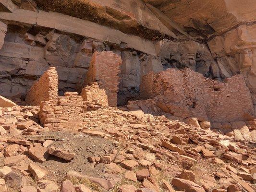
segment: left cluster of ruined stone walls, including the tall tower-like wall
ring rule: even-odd
[[[26,103],[40,105],[40,122],[50,129],[83,128],[85,111],[117,106],[121,63],[121,57],[113,52],[95,52],[85,80],[90,86],[82,89],[81,96],[77,92],[58,96],[58,74],[50,67],[32,85]]]

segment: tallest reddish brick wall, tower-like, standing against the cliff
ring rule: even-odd
[[[98,82],[100,88],[106,90],[109,106],[111,107],[117,105],[121,64],[122,58],[111,51],[94,52],[89,70],[86,74],[84,85],[91,85],[93,82]]]

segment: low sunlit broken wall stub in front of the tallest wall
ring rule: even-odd
[[[106,90],[101,89],[97,82],[92,83],[91,86],[85,86],[82,89],[81,96],[84,101],[94,102],[97,100],[97,103],[102,106],[109,106]]]

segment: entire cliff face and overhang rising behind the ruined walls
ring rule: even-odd
[[[243,74],[256,105],[252,0],[1,0],[0,94],[24,97],[49,66],[59,92],[81,89],[92,53],[122,56],[119,104],[141,76],[188,67],[222,81]]]

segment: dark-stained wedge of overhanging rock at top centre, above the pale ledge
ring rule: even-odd
[[[144,38],[175,36],[141,0],[35,1],[42,10],[61,12]]]

